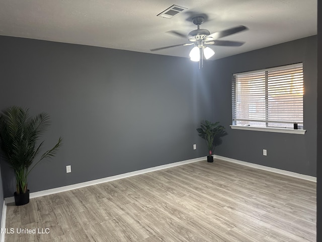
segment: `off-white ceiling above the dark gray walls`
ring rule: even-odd
[[[172,5],[188,10],[172,19],[157,17]],[[317,33],[317,0],[0,0],[0,35],[188,57],[192,46],[167,31],[188,34],[187,19],[206,15],[210,33],[245,25],[248,31],[221,38],[240,47],[212,46],[212,59]]]

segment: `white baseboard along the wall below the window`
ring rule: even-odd
[[[272,168],[272,167],[268,167],[268,166],[264,166],[264,165],[258,165],[258,164],[254,164],[254,163],[249,163],[249,162],[241,161],[241,160],[235,160],[235,159],[227,158],[227,157],[220,156],[220,155],[214,155],[213,157],[215,159],[224,160],[224,161],[228,161],[228,162],[232,162],[232,163],[236,163],[236,164],[240,164],[240,165],[246,165],[246,166],[250,166],[250,167],[261,169],[261,170],[267,170],[267,171],[271,171],[271,172],[275,172],[275,173],[279,173],[279,174],[283,174],[283,175],[293,176],[293,177],[304,179],[304,180],[314,181],[316,183],[316,177],[314,177],[314,176],[303,175],[303,174],[299,174],[299,173],[292,172],[292,171],[281,170],[281,169]]]

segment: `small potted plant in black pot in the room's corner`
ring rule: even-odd
[[[201,128],[197,131],[202,139],[206,140],[209,155],[207,156],[208,162],[213,162],[213,152],[216,146],[222,143],[222,137],[227,135],[225,127],[219,125],[219,122],[212,123],[205,120],[205,123],[201,123]]]

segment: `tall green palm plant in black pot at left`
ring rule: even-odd
[[[41,112],[29,115],[29,109],[12,106],[0,114],[0,150],[1,157],[14,170],[16,176],[16,205],[29,202],[28,175],[43,159],[51,158],[61,146],[62,139],[44,152],[40,151],[44,141],[39,143],[40,136],[50,126],[49,115]],[[36,160],[37,158],[37,160]]]

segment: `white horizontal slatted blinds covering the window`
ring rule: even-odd
[[[232,125],[303,127],[303,64],[233,74]]]

